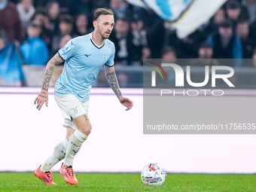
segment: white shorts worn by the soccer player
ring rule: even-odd
[[[70,126],[77,129],[72,119],[82,114],[88,114],[89,102],[81,102],[75,95],[55,96],[55,101],[59,105],[62,116],[64,117],[63,126]]]

